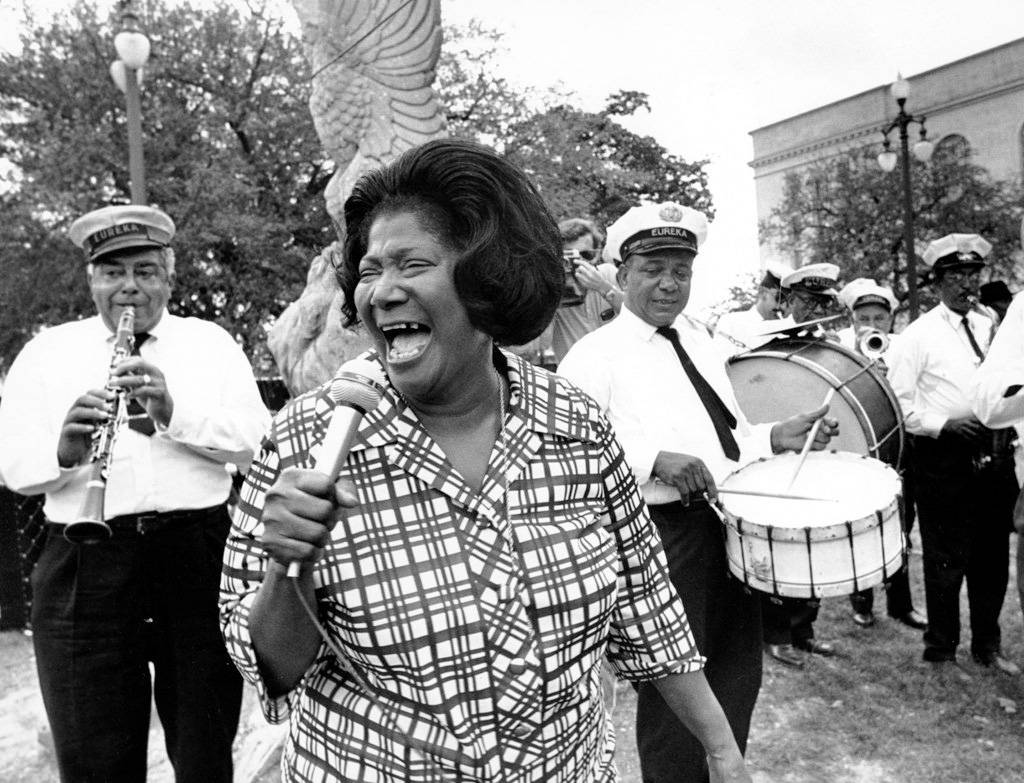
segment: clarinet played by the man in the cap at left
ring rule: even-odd
[[[111,537],[111,526],[103,521],[103,501],[106,496],[106,479],[110,475],[111,454],[118,432],[128,421],[128,390],[113,383],[114,368],[131,356],[135,347],[135,308],[128,306],[121,311],[118,331],[114,339],[106,391],[116,396],[114,411],[92,434],[89,454],[89,479],[85,484],[85,497],[78,519],[65,526],[65,538],[72,543],[96,543]]]

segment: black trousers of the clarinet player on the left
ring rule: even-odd
[[[228,524],[217,507],[94,545],[50,526],[32,624],[63,783],[145,780],[151,688],[177,783],[230,783],[242,680],[217,617]]]

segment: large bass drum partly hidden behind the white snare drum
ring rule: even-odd
[[[828,447],[899,468],[899,401],[885,374],[860,354],[826,340],[791,337],[733,356],[727,372],[736,401],[752,424],[813,410],[835,389],[828,416],[839,420],[840,434]]]

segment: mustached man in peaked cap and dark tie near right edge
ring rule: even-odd
[[[982,425],[971,399],[993,331],[974,307],[991,247],[976,233],[947,234],[928,246],[922,261],[940,302],[900,335],[889,356],[889,383],[913,435],[928,604],[924,658],[955,662],[966,579],[975,661],[1018,673],[1002,657],[999,629],[1017,497],[1014,431]]]

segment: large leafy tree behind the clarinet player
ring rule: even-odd
[[[178,229],[170,309],[219,322],[264,366],[267,319],[295,298],[333,234],[321,195],[333,165],[306,107],[301,46],[259,6],[152,0],[146,12],[146,184]],[[14,167],[0,203],[8,360],[40,324],[91,312],[66,229],[130,200],[124,98],[108,73],[117,25],[79,0],[27,25],[22,51],[0,55],[0,143]],[[33,279],[44,285],[27,292]]]

